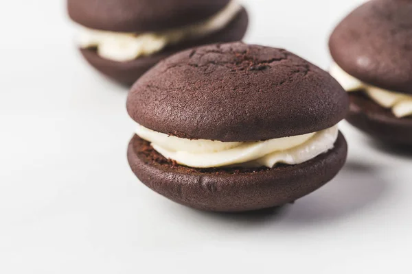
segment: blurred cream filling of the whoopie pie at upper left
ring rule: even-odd
[[[104,32],[81,27],[78,45],[83,49],[97,47],[100,57],[108,60],[117,62],[135,60],[141,55],[151,55],[161,51],[167,45],[217,32],[229,24],[241,8],[239,3],[232,0],[223,10],[207,21],[163,32],[135,34]]]

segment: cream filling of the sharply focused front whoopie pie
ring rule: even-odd
[[[141,125],[136,134],[165,158],[197,168],[218,166],[267,166],[301,164],[332,149],[338,138],[337,125],[299,136],[256,142],[190,140],[168,136]]]

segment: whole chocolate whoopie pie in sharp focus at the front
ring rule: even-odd
[[[333,77],[284,49],[198,47],[131,89],[128,161],[146,186],[192,208],[280,206],[339,172],[347,145],[336,123],[347,108]]]

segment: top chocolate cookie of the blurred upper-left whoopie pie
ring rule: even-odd
[[[201,22],[230,0],[68,0],[69,16],[91,29],[157,32]]]

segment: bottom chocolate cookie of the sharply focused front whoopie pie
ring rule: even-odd
[[[273,169],[193,169],[166,160],[134,136],[128,161],[141,182],[172,201],[200,210],[240,212],[282,206],[317,190],[342,168],[347,144],[303,164]]]

